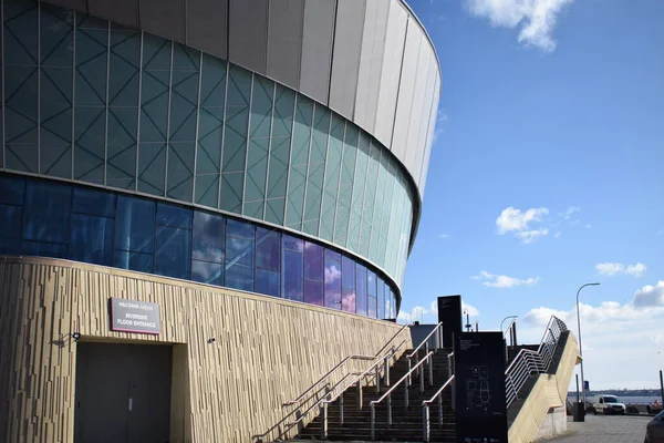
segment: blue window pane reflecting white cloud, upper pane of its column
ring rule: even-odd
[[[226,219],[221,216],[201,212],[194,213],[191,256],[195,260],[224,262],[225,225]]]

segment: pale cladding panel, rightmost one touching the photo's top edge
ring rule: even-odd
[[[374,130],[374,136],[387,147],[392,141],[407,22],[408,13],[404,7],[396,0],[391,1]]]

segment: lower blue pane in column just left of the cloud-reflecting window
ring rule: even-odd
[[[155,240],[155,274],[189,278],[191,231],[159,226]]]

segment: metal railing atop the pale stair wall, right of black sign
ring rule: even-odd
[[[505,371],[505,388],[507,408],[515,400],[518,400],[518,394],[521,388],[526,384],[532,373],[544,373],[549,371],[556,348],[568,328],[563,321],[556,316],[551,316],[542,340],[537,351],[521,349],[517,357]]]

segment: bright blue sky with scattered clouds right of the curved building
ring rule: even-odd
[[[575,331],[600,281],[581,292],[591,388],[658,387],[664,2],[408,3],[443,93],[401,320],[460,293],[480,329],[518,315],[539,341],[551,313]]]

